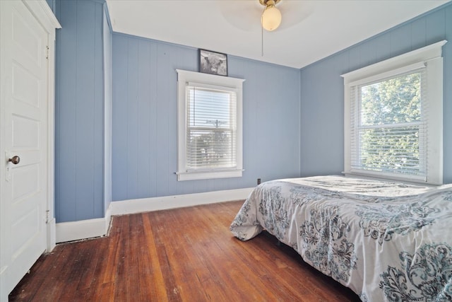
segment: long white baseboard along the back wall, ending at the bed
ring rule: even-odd
[[[146,211],[193,207],[201,204],[215,204],[217,202],[241,200],[246,199],[253,189],[254,187],[246,187],[237,190],[129,199],[120,202],[112,202],[112,215],[135,214]]]

